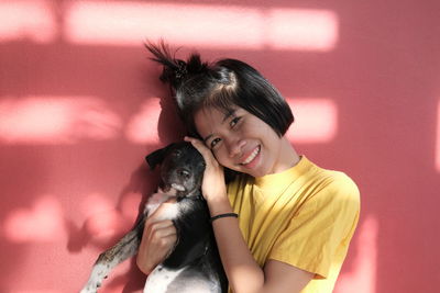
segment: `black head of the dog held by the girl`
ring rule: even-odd
[[[175,143],[145,157],[151,169],[161,165],[161,188],[177,196],[199,194],[205,160],[190,143]]]

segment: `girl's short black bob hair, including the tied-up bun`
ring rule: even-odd
[[[179,115],[189,135],[200,137],[195,114],[204,108],[216,108],[223,113],[237,106],[257,116],[282,137],[294,122],[285,99],[256,69],[237,59],[201,63],[194,53],[187,61],[175,59],[168,46],[145,44],[153,60],[164,66],[161,80],[170,86]]]

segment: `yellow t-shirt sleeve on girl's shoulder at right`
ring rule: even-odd
[[[340,176],[309,196],[276,239],[268,259],[327,278],[337,249],[346,249],[358,224],[360,193]]]

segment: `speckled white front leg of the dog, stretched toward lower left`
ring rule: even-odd
[[[90,278],[80,293],[96,293],[103,279],[119,263],[134,256],[142,238],[145,217],[129,232],[117,245],[99,255],[90,273]]]

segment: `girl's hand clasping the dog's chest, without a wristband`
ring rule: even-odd
[[[177,241],[176,227],[170,219],[160,219],[161,213],[168,209],[170,202],[164,202],[145,221],[144,233],[139,247],[136,263],[139,269],[148,274],[164,261]]]

